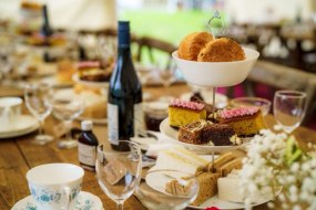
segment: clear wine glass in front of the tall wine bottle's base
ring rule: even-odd
[[[129,151],[106,150],[98,147],[96,174],[101,189],[123,209],[124,201],[131,197],[140,183],[142,174],[142,153],[140,146],[130,140],[120,140]]]

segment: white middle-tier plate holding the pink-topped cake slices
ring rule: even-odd
[[[161,124],[160,124],[160,130],[161,133],[163,133],[164,135],[169,136],[170,140],[172,143],[175,144],[180,144],[184,147],[186,147],[190,150],[194,150],[195,153],[198,154],[205,154],[205,153],[223,153],[223,151],[227,151],[227,150],[232,150],[232,149],[242,149],[244,148],[247,143],[249,141],[251,138],[243,138],[243,144],[242,145],[230,145],[230,146],[208,146],[208,145],[193,145],[193,144],[188,144],[188,143],[183,143],[177,140],[177,136],[179,136],[179,130],[175,128],[172,128],[169,125],[169,118],[165,118]]]

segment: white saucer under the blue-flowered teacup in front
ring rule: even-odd
[[[103,210],[102,201],[99,197],[81,191],[78,196],[74,210]],[[28,196],[17,202],[11,210],[37,210],[37,204],[32,196]]]

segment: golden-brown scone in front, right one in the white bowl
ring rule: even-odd
[[[220,38],[208,42],[197,55],[198,62],[232,62],[245,60],[242,46],[232,39]]]

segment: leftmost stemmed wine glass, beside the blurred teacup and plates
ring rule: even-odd
[[[38,145],[45,145],[53,140],[51,135],[44,134],[44,119],[51,114],[51,98],[52,90],[49,84],[28,84],[24,90],[24,99],[30,113],[39,120],[39,135],[32,143]]]

